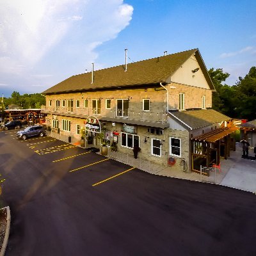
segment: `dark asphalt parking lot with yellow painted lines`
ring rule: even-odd
[[[256,255],[256,195],[0,131],[13,255]]]

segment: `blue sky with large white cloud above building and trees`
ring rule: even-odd
[[[0,92],[40,93],[64,79],[198,48],[235,84],[256,65],[256,1],[1,0]],[[129,60],[129,61],[131,61]]]

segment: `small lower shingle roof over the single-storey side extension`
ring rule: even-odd
[[[188,111],[170,111],[170,116],[180,120],[192,130],[212,124],[218,124],[231,118],[215,111],[214,109],[195,109]]]

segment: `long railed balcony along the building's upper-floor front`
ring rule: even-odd
[[[100,120],[112,121],[112,122],[128,122],[134,121],[143,123],[167,123],[167,114],[164,111],[151,112],[151,111],[132,111],[129,109],[100,109],[100,108],[59,108],[58,110],[54,107],[42,106],[42,113],[49,113],[52,115],[63,115],[63,116],[75,116],[85,118],[90,115],[97,116]]]

